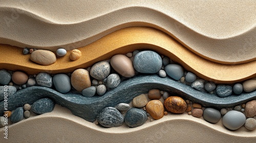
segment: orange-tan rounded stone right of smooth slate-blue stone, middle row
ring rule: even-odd
[[[76,69],[71,75],[71,85],[77,90],[82,91],[91,86],[89,72],[86,69]]]

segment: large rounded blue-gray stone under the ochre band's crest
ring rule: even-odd
[[[133,66],[139,73],[155,74],[162,67],[162,58],[156,52],[142,51],[135,55]]]

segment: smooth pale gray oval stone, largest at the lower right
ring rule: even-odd
[[[246,117],[239,111],[228,111],[222,117],[222,124],[229,130],[237,130],[244,125]]]

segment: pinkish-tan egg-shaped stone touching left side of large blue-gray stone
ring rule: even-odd
[[[130,78],[135,75],[135,69],[131,59],[125,55],[115,55],[110,60],[111,66],[123,77]]]

